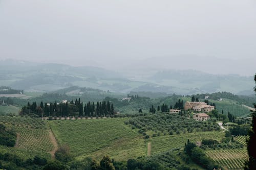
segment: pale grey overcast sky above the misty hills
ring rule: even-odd
[[[0,26],[0,60],[122,68],[185,56],[256,72],[254,0],[0,0]]]

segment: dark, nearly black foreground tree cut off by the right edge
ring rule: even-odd
[[[256,83],[256,74],[254,76],[254,81]],[[254,91],[256,92],[256,86]],[[254,108],[256,109],[256,104],[254,104]],[[245,170],[256,169],[256,111],[253,111],[252,113],[251,126],[252,128],[249,130],[249,138],[246,140],[249,160],[245,162]]]

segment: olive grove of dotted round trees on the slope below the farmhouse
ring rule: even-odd
[[[154,133],[154,136],[158,134],[180,134],[220,130],[220,126],[210,120],[201,122],[192,118],[188,119],[178,114],[166,113],[137,116],[126,121],[125,124],[130,125],[134,129],[139,129],[141,133],[147,132],[148,135]]]

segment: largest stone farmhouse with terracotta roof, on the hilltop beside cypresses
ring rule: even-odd
[[[210,112],[214,110],[214,106],[207,105],[204,102],[186,102],[184,106],[185,110],[191,109],[198,112]]]

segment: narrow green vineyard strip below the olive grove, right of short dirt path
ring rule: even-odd
[[[196,142],[202,141],[203,138],[221,140],[224,137],[225,133],[220,131],[157,136],[152,138],[152,154],[165,152],[175,148],[183,149],[187,139],[189,139],[191,142]]]

